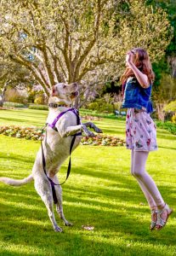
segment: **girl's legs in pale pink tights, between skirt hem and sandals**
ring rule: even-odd
[[[139,181],[142,190],[148,192],[145,194],[147,196],[147,201],[150,203],[150,207],[162,208],[165,202],[162,199],[162,195],[156,187],[156,183],[150,177],[150,175],[145,171],[145,164],[149,152],[145,151],[134,151],[133,152],[133,176]]]

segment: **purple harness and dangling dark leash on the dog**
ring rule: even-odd
[[[77,116],[77,125],[80,125],[81,122],[80,122],[80,118],[79,118],[79,113],[77,111],[76,108],[70,108],[64,112],[61,112],[53,121],[52,124],[46,124],[44,127],[43,127],[43,130],[42,130],[42,135],[43,135],[43,131],[45,130],[45,128],[47,126],[51,127],[52,129],[54,129],[54,131],[57,131],[57,128],[55,127],[57,121],[60,119],[61,116],[63,116],[65,113],[71,111],[72,113],[75,113],[75,115]],[[69,177],[70,173],[71,173],[71,151],[72,151],[72,148],[73,148],[73,145],[75,143],[75,140],[76,140],[76,137],[77,136],[80,136],[82,135],[82,132],[78,132],[76,133],[75,135],[73,135],[73,138],[71,140],[71,146],[70,146],[70,159],[69,159],[69,164],[68,164],[68,168],[67,168],[67,173],[66,173],[66,178],[65,178],[65,181],[67,180],[67,178]],[[55,193],[55,188],[54,186],[61,186],[62,184],[65,183],[65,181],[63,183],[60,183],[60,184],[57,184],[57,183],[54,183],[54,181],[48,177],[47,175],[47,171],[46,171],[46,160],[45,160],[45,156],[44,156],[44,152],[43,152],[43,142],[42,142],[42,136],[41,136],[41,148],[42,148],[42,158],[43,158],[43,171],[46,175],[46,177],[48,178],[48,181],[50,182],[51,184],[51,188],[52,188],[52,193],[53,193],[53,199],[54,199],[54,204],[56,204],[58,202],[58,199],[57,199],[57,196],[56,196],[56,193]]]

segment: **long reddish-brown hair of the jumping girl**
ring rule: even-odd
[[[150,84],[152,84],[155,79],[155,74],[153,73],[148,53],[142,48],[133,48],[131,49],[131,52],[134,54],[134,65],[138,67],[142,73],[147,75]],[[125,72],[121,77],[122,84],[125,83],[129,77],[134,77],[134,73],[130,67],[126,67]]]

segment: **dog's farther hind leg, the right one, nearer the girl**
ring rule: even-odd
[[[59,180],[58,180],[58,177],[56,175],[54,176],[54,183],[56,183],[56,184],[60,183]],[[57,196],[57,199],[58,199],[58,203],[56,204],[56,211],[60,215],[60,218],[63,220],[65,226],[72,226],[72,224],[65,219],[65,215],[64,215],[64,212],[63,212],[62,188],[61,188],[61,186],[55,186],[55,192],[56,192],[56,196]]]

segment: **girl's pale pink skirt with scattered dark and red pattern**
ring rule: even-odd
[[[145,111],[128,108],[126,118],[126,145],[134,151],[155,151],[156,125]]]

